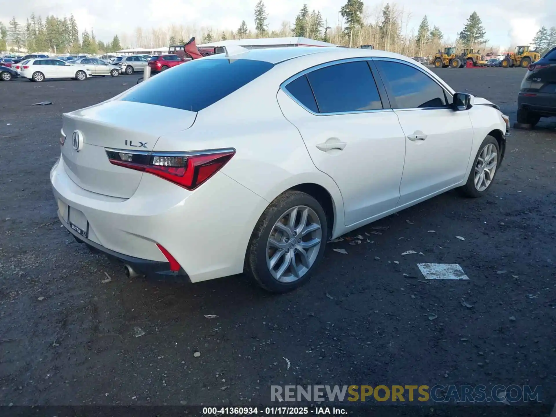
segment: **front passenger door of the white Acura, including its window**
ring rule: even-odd
[[[463,180],[473,145],[468,111],[454,111],[453,97],[423,69],[394,59],[373,61],[405,136],[398,206]]]

